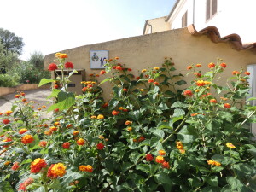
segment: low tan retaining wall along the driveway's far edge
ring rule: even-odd
[[[49,89],[50,85],[41,86],[40,89]],[[36,90],[38,89],[38,84],[19,84],[15,87],[0,87],[0,96],[5,96],[16,91],[24,90]]]

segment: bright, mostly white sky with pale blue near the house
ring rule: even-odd
[[[21,59],[142,35],[145,20],[166,16],[175,0],[8,0],[0,27],[26,44]]]

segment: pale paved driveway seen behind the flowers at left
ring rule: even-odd
[[[35,108],[41,107],[45,105],[47,107],[50,106],[46,99],[47,96],[50,95],[50,90],[48,89],[38,89],[38,90],[26,90],[24,91],[26,94],[27,101],[34,101]],[[17,93],[9,94],[6,96],[0,96],[0,112],[4,113],[12,108],[12,103],[15,102],[15,95]]]

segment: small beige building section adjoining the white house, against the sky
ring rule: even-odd
[[[147,25],[149,24],[149,25]],[[164,32],[167,30],[171,30],[171,26],[169,22],[166,22],[166,17],[155,18],[153,20],[146,21],[146,29],[144,34],[150,34],[154,32]],[[152,26],[152,29],[151,29]]]

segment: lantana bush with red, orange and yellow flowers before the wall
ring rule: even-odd
[[[253,191],[256,147],[249,122],[255,107],[245,103],[249,73],[233,73],[218,84],[225,63],[190,65],[191,85],[176,74],[172,59],[162,67],[132,69],[113,58],[101,83],[98,74],[81,82],[83,95],[67,92],[67,55],[56,54],[49,70],[61,70],[49,96],[55,103],[33,108],[16,96],[1,113],[0,186],[20,191]],[[101,84],[113,85],[112,98]],[[42,114],[53,111],[50,118]],[[8,120],[6,120],[8,119]]]

